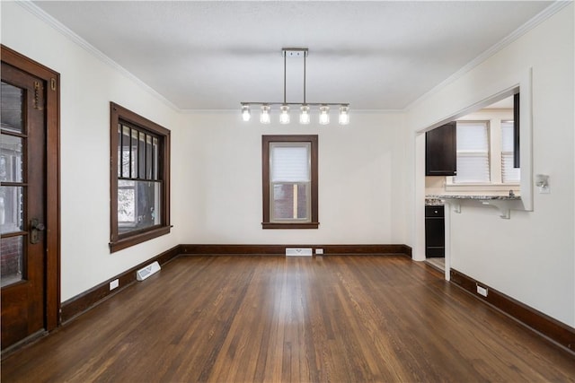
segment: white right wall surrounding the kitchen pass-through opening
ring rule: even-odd
[[[575,326],[575,188],[573,4],[509,47],[429,94],[408,114],[419,132],[524,82],[533,68],[533,170],[550,175],[552,192],[534,194],[533,212],[502,220],[491,207],[451,213],[451,266],[492,288]],[[522,97],[529,97],[522,93]],[[414,141],[422,177],[421,135]],[[523,164],[522,164],[523,165]],[[523,175],[522,175],[523,177]],[[424,183],[413,180],[413,238],[420,245]],[[420,252],[420,247],[416,248]]]

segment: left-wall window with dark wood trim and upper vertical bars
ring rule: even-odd
[[[170,131],[110,103],[113,253],[170,232]]]

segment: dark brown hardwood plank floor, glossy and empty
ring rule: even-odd
[[[575,359],[406,257],[178,257],[3,382],[574,381]]]

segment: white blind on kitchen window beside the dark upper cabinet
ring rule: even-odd
[[[456,183],[490,182],[489,132],[485,121],[457,121]]]

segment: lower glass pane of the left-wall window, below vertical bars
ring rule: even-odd
[[[118,181],[118,232],[160,224],[161,183]]]

